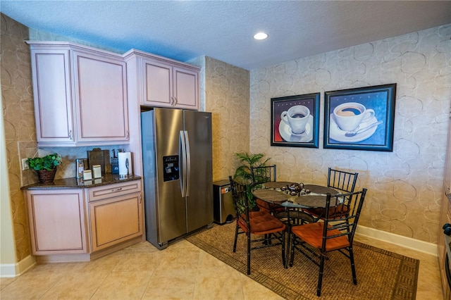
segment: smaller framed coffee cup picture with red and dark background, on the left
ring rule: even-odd
[[[318,148],[319,93],[271,98],[271,146]]]

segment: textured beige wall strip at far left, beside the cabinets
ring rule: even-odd
[[[36,140],[30,48],[23,42],[27,37],[27,27],[1,14],[2,113],[17,261],[31,254],[25,201],[20,191],[22,182],[19,163],[19,149],[23,141]]]

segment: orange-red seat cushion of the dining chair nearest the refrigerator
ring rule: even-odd
[[[246,215],[242,214],[238,219],[238,225],[247,232],[245,219]],[[266,235],[267,233],[285,230],[285,225],[266,211],[249,212],[249,226],[253,235]]]

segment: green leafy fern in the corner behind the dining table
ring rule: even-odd
[[[257,208],[256,199],[252,196],[252,173],[251,168],[264,166],[267,161],[271,158],[264,159],[264,154],[250,154],[247,152],[237,152],[233,156],[239,160],[242,165],[240,165],[235,170],[235,175],[233,179],[241,182],[242,184],[249,186],[249,191],[247,191],[247,199],[249,199],[250,208]]]

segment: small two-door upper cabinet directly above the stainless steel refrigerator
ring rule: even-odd
[[[199,109],[199,68],[135,49],[124,58],[130,99],[144,106]]]

